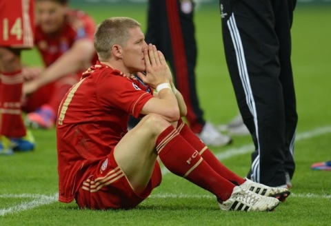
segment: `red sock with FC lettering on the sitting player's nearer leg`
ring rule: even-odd
[[[230,198],[234,185],[214,172],[172,125],[157,138],[157,152],[170,172],[208,190],[222,201]]]

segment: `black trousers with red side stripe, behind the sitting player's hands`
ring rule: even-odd
[[[174,75],[177,90],[188,107],[186,119],[193,132],[199,133],[205,121],[197,96],[195,66],[197,42],[194,34],[194,3],[179,0],[148,1],[146,42],[165,55]]]

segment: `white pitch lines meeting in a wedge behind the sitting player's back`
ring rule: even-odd
[[[15,205],[13,207],[9,207],[9,208],[3,208],[0,209],[0,216],[5,216],[6,214],[14,214],[16,212],[21,212],[24,210],[28,210],[28,209],[33,209],[35,207],[39,207],[41,205],[48,205],[50,203],[54,203],[57,201],[57,194],[54,194],[53,196],[45,196],[45,195],[30,195],[30,196],[12,196],[12,195],[3,195],[1,198],[14,198],[14,197],[18,197],[18,198],[26,198],[26,197],[33,197],[35,198],[33,201],[30,202],[23,202],[19,205]]]

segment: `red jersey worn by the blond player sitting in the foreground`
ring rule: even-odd
[[[96,167],[112,152],[128,132],[129,115],[138,117],[151,98],[146,85],[106,65],[99,63],[83,73],[58,112],[59,201],[74,199],[88,176],[86,169]]]

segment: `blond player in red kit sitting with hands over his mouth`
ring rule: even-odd
[[[161,183],[159,160],[214,194],[222,210],[271,211],[290,194],[237,176],[183,123],[183,97],[137,21],[106,19],[94,33],[94,48],[99,61],[59,107],[59,201],[75,199],[90,209],[136,207]],[[143,118],[128,132],[130,114]]]

